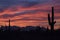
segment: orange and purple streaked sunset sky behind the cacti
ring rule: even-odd
[[[60,0],[0,0],[0,25],[48,26],[48,13],[55,10],[55,28],[60,28]]]

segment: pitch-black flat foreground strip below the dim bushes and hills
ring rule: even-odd
[[[0,32],[0,40],[60,40],[60,32]]]

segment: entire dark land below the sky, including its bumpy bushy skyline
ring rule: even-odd
[[[60,29],[51,32],[48,28],[40,28],[40,26],[1,27],[0,40],[60,40]]]

